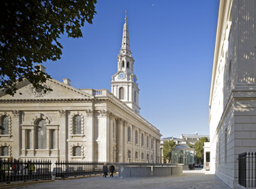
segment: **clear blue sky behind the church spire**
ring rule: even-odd
[[[140,115],[162,137],[209,134],[218,6],[216,0],[98,0],[93,24],[85,24],[82,38],[61,37],[62,58],[46,62],[46,72],[68,77],[72,87],[110,90],[127,10]]]

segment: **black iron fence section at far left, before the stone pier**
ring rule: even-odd
[[[49,160],[0,160],[0,182],[52,179]]]

